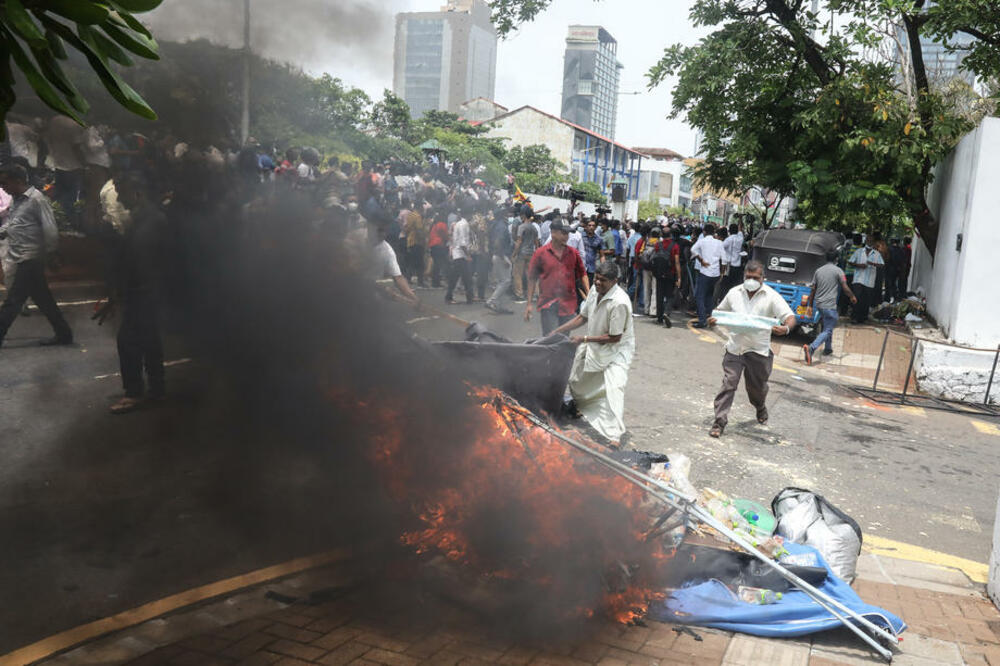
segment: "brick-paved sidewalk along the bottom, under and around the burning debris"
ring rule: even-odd
[[[491,636],[477,624],[473,613],[453,606],[432,603],[414,621],[412,609],[403,613],[397,608],[399,599],[391,595],[373,598],[364,588],[326,601],[336,596],[331,590],[344,590],[349,584],[348,577],[337,567],[307,572],[146,622],[39,663],[53,666],[882,663],[846,630],[781,640],[694,627],[695,638],[675,631],[673,625],[650,622],[645,627],[596,626],[586,632],[585,639],[571,642],[514,643]],[[894,663],[1000,666],[1000,612],[961,573],[865,554],[859,562],[855,588],[866,601],[900,615],[909,624]],[[319,603],[309,603],[310,593]],[[293,597],[298,601],[282,603]]]

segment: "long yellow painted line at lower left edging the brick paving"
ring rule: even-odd
[[[201,603],[213,597],[230,594],[236,590],[266,583],[276,578],[284,578],[285,576],[306,571],[307,569],[315,569],[339,562],[346,559],[347,555],[348,552],[346,549],[339,549],[319,555],[300,557],[284,564],[276,564],[273,567],[251,571],[242,576],[234,576],[233,578],[226,578],[216,583],[202,585],[201,587],[174,594],[159,601],[151,601],[138,608],[133,608],[123,613],[80,625],[79,627],[68,629],[48,638],[43,638],[36,643],[0,656],[0,666],[23,666],[23,664],[30,664],[50,657],[57,652],[68,650],[74,645],[85,641],[91,641],[105,634],[128,629],[161,615],[166,615],[178,608]]]

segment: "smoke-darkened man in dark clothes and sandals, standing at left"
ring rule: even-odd
[[[122,307],[118,361],[125,389],[125,397],[111,406],[111,412],[123,414],[145,400],[163,398],[166,390],[159,309],[167,218],[150,201],[149,184],[142,176],[129,174],[116,179],[115,187],[118,200],[131,215],[118,243],[111,301]]]

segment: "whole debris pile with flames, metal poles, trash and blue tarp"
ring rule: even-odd
[[[891,658],[882,642],[898,642],[901,620],[772,535],[762,507],[698,495],[683,456],[603,448],[496,389],[470,398],[457,420],[474,441],[430,473],[399,414],[374,415],[391,424],[374,454],[385,486],[412,512],[400,541],[452,599],[528,624],[649,617],[776,636],[844,624]]]

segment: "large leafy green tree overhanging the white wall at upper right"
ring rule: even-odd
[[[548,4],[497,0],[494,11],[510,30]],[[810,4],[695,0],[691,21],[711,32],[694,46],[667,48],[650,84],[677,77],[673,115],[705,137],[695,174],[702,183],[794,195],[814,225],[852,217],[884,227],[908,216],[933,253],[933,168],[975,118],[933,85],[920,40],[962,52],[968,70],[993,80],[996,3],[823,0],[819,13]]]

